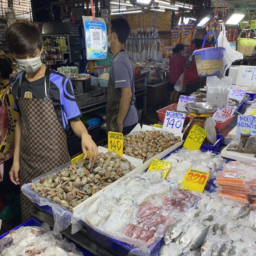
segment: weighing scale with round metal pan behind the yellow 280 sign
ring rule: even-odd
[[[207,102],[190,102],[185,105],[186,110],[190,112],[194,118],[188,123],[183,138],[186,139],[194,124],[207,130],[208,134],[203,143],[214,145],[217,141],[215,122],[210,118],[211,114],[216,112],[218,106]]]

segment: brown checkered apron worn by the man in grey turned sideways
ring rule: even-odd
[[[117,54],[119,52],[124,52],[124,51],[125,50],[120,49],[117,52]],[[116,58],[117,54],[114,56],[114,58]],[[121,93],[118,90],[116,90],[115,84],[111,76],[109,76],[108,88],[107,88],[107,106],[106,106],[107,134],[109,131],[119,132],[117,117],[119,112],[120,100],[121,100]]]

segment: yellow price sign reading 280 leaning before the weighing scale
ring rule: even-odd
[[[190,150],[198,150],[204,142],[207,133],[207,130],[194,124],[183,144],[184,148]]]

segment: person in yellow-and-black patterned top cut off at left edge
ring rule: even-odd
[[[13,110],[12,61],[0,51],[0,190],[6,204],[0,212],[2,222],[20,218],[20,186],[10,181],[9,172],[14,154],[17,112]]]

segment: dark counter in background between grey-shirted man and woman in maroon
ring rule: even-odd
[[[147,84],[148,94],[147,101],[148,104],[153,105],[155,108],[156,105],[162,105],[163,102],[169,102],[170,92],[168,91],[168,82],[162,82],[160,84],[150,85]]]

